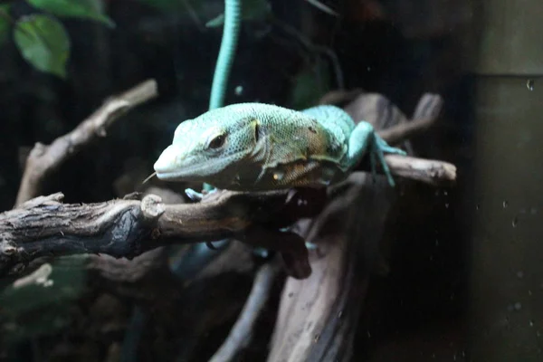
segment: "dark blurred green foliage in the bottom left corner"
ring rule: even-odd
[[[86,284],[82,258],[59,259],[52,263],[51,285],[29,283],[0,292],[0,333],[2,343],[50,335],[70,322],[66,307],[81,297]]]

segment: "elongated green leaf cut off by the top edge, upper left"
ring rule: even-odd
[[[31,5],[63,17],[79,17],[99,21],[110,27],[115,23],[102,14],[100,0],[27,0]]]

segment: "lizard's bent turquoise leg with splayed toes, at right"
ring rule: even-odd
[[[348,167],[352,169],[362,160],[367,152],[370,152],[370,164],[372,174],[376,174],[376,163],[381,163],[383,171],[385,172],[388,184],[395,186],[394,179],[390,173],[388,165],[385,161],[385,152],[394,153],[397,155],[406,155],[405,151],[400,148],[393,148],[389,146],[385,139],[380,138],[373,126],[366,121],[361,121],[357,124],[357,127],[353,129],[348,138]]]

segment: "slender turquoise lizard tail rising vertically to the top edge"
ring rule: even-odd
[[[240,30],[241,5],[240,0],[224,0],[224,28],[221,50],[215,65],[209,109],[214,110],[224,106],[224,94],[230,70],[232,69],[233,55],[237,46]]]

